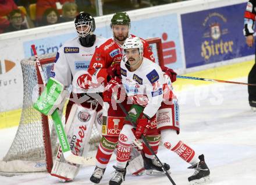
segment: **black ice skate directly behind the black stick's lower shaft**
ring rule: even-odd
[[[157,161],[157,159],[143,157],[143,160],[144,168],[146,170],[147,175],[165,175],[165,172],[163,172],[163,169],[160,163]],[[166,163],[163,163],[163,166],[165,167],[166,171],[170,174],[170,166]]]

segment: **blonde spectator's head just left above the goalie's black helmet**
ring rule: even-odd
[[[65,2],[62,6],[61,22],[74,21],[77,16],[77,5],[74,2]]]

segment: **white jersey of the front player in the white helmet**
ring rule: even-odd
[[[143,58],[141,66],[130,72],[125,60],[121,62],[121,75],[126,94],[134,104],[145,106],[143,113],[152,118],[163,101],[164,79],[161,67]]]

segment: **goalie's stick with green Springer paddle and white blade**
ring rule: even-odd
[[[37,51],[35,49],[35,45],[34,44],[31,45],[31,48],[32,48],[34,56],[35,56],[35,61],[37,63],[37,67],[40,72],[41,79],[45,86],[46,81],[44,78],[44,73],[42,72],[41,63],[37,56]],[[54,127],[56,130],[58,139],[59,139],[59,143],[61,144],[63,156],[66,159],[66,161],[70,162],[70,163],[80,164],[80,165],[87,164],[86,158],[72,154],[72,152],[70,150],[70,145],[69,145],[69,142],[67,141],[67,136],[66,136],[66,133],[65,133],[65,130],[64,130],[64,127],[63,127],[63,124],[62,124],[62,121],[61,121],[61,118],[59,116],[57,109],[54,111],[54,113],[52,113],[51,117],[52,117],[52,120],[54,120]]]

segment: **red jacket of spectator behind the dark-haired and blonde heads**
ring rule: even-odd
[[[1,0],[0,0],[1,1]],[[37,0],[37,17],[36,20],[40,21],[44,11],[48,8],[55,8],[59,14],[62,13],[62,5],[65,2],[74,2],[74,0]]]

